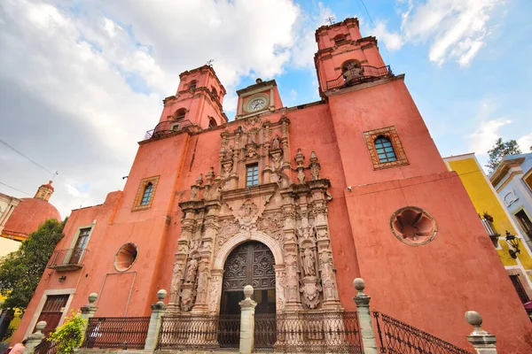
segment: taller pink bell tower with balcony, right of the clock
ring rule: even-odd
[[[380,57],[377,39],[362,37],[358,19],[348,18],[316,31],[314,63],[320,96],[361,77],[379,77],[388,68]]]

